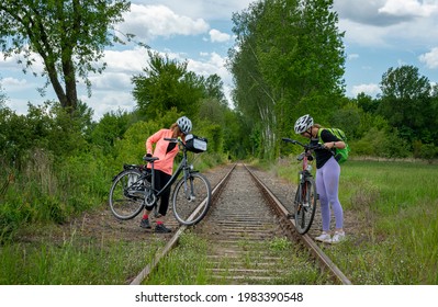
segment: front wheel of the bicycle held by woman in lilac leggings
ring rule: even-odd
[[[315,217],[316,203],[316,184],[312,178],[308,178],[299,185],[295,194],[295,228],[299,234],[304,235],[311,229]]]

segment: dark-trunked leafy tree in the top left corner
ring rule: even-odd
[[[105,68],[96,64],[105,46],[121,42],[113,26],[130,7],[126,0],[2,0],[1,50],[5,57],[21,54],[24,71],[40,55],[46,87],[52,83],[61,106],[72,113],[78,105],[77,76],[91,94],[88,73]]]

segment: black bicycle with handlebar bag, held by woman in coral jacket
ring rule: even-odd
[[[154,162],[157,157],[144,157],[150,168],[144,164],[125,164],[124,170],[113,178],[110,190],[110,208],[119,219],[136,217],[146,206],[157,211],[159,196],[176,183],[172,194],[172,212],[182,225],[194,225],[206,215],[212,198],[209,180],[193,170],[188,161],[188,151],[202,152],[206,150],[206,139],[187,135],[186,144],[180,138],[166,138],[177,143],[182,151],[182,160],[169,182],[160,190],[155,189]],[[179,175],[181,178],[179,179]]]

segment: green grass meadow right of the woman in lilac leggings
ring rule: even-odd
[[[293,172],[279,174],[293,181]],[[360,229],[326,253],[353,284],[438,284],[437,173],[437,164],[422,162],[342,164],[340,202]]]

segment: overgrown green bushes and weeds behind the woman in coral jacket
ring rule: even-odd
[[[0,110],[0,241],[13,239],[20,225],[65,223],[106,202],[111,179],[123,163],[142,163],[146,138],[182,113],[173,109],[147,122],[115,113],[101,123],[86,121],[87,114],[71,117],[56,103],[30,106],[27,115]],[[217,125],[192,118],[193,132],[207,137],[211,148],[223,147]],[[221,151],[192,156],[201,170],[223,157]]]

